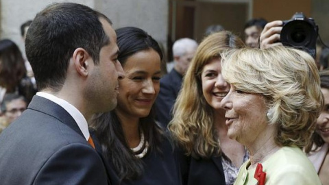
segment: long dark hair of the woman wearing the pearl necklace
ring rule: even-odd
[[[154,49],[162,60],[162,51],[158,42],[143,29],[123,27],[117,29],[116,33],[120,51],[118,60],[122,66],[125,66],[127,58],[134,55],[134,53],[149,49]],[[95,129],[102,151],[114,165],[120,180],[136,180],[143,174],[143,161],[136,158],[127,145],[121,122],[114,110],[93,116],[91,127]],[[140,119],[139,127],[143,130],[145,139],[149,143],[149,152],[147,153],[162,153],[158,146],[163,133],[155,122],[154,107],[151,108],[148,116]]]

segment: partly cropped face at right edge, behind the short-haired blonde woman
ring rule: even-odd
[[[324,142],[329,143],[329,89],[321,88],[324,94],[324,110],[317,119],[317,130]]]

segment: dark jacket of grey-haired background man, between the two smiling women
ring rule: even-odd
[[[171,121],[171,110],[182,86],[182,75],[172,69],[160,79],[160,92],[156,98],[156,120],[162,127]]]

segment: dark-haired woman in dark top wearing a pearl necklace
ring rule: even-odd
[[[155,122],[162,52],[142,29],[117,29],[119,81],[117,108],[94,116],[92,127],[110,164],[112,184],[180,184],[173,147]],[[97,146],[97,143],[96,143]]]

